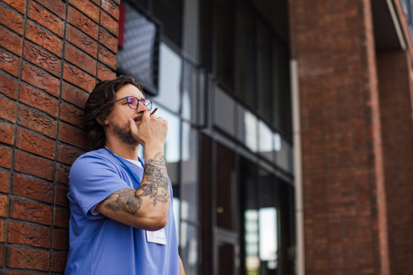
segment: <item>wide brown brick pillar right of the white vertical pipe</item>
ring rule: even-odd
[[[290,0],[306,274],[389,274],[370,0]]]

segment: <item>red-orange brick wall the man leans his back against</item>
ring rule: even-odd
[[[0,0],[0,274],[64,271],[67,175],[88,93],[115,76],[119,1]]]

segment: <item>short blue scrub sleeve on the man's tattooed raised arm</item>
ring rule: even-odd
[[[76,199],[83,214],[89,219],[103,215],[93,215],[92,208],[114,192],[131,188],[119,175],[118,169],[105,157],[82,155],[72,165],[69,175],[70,192]]]

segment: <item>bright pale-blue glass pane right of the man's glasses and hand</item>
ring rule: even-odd
[[[180,109],[182,59],[165,43],[160,44],[159,74],[159,94],[153,99],[174,113],[178,113]]]

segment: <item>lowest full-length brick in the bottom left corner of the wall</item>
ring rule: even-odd
[[[47,271],[50,265],[49,257],[48,251],[9,247],[6,267]]]

